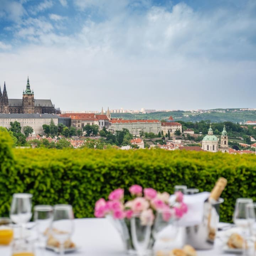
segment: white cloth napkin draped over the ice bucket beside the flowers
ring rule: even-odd
[[[202,222],[203,205],[209,194],[210,192],[202,192],[183,196],[183,202],[187,204],[188,211],[178,220],[179,226],[193,226]],[[170,196],[170,203],[174,200],[175,195]]]

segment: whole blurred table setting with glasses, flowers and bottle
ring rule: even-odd
[[[256,204],[237,198],[234,223],[220,223],[226,180],[212,192],[176,186],[175,193],[133,185],[95,203],[96,218],[75,219],[69,204],[36,205],[33,195],[12,197],[0,218],[0,255],[255,256]],[[33,216],[33,221],[32,220]]]

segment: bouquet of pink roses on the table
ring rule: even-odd
[[[176,192],[175,203],[170,205],[170,195],[167,192],[159,193],[153,188],[143,188],[133,185],[129,188],[133,199],[124,202],[124,190],[117,188],[108,196],[108,201],[100,198],[95,204],[95,217],[101,218],[112,215],[114,219],[130,219],[135,215],[140,216],[142,223],[154,223],[155,214],[162,213],[164,221],[168,222],[171,218],[181,218],[187,212],[187,205],[183,203],[183,194]]]

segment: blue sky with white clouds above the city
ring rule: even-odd
[[[0,0],[0,87],[67,111],[256,108],[255,0]]]

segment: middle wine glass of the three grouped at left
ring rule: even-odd
[[[46,246],[47,235],[53,219],[53,207],[50,205],[36,205],[34,207],[34,221],[38,234],[39,244]]]

